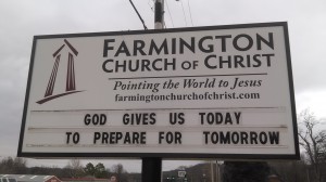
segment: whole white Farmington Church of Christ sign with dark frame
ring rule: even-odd
[[[298,158],[286,23],[36,36],[18,156]]]

